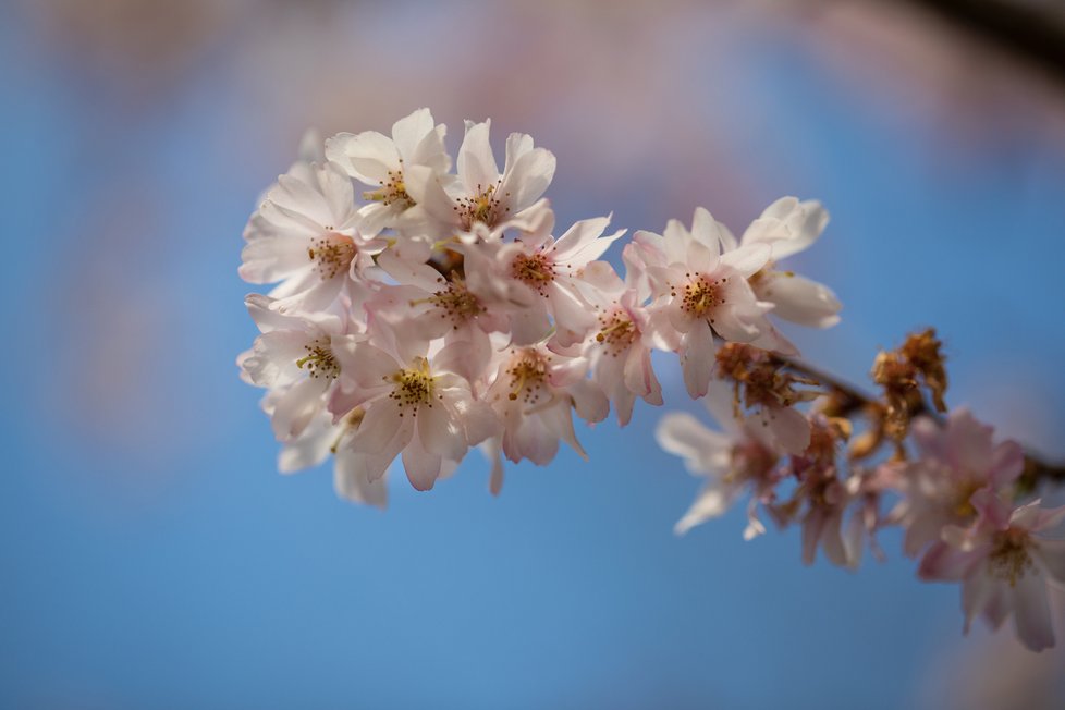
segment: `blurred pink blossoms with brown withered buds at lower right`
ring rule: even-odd
[[[686,413],[662,419],[659,443],[706,478],[677,532],[748,495],[745,538],[766,531],[763,512],[780,527],[800,526],[807,564],[820,549],[853,568],[866,547],[882,558],[877,532],[899,527],[921,579],[962,584],[966,633],[977,616],[997,628],[1013,614],[1025,646],[1053,646],[1048,591],[1065,584],[1065,539],[1054,537],[1065,506],[1024,500],[1027,462],[1017,442],[995,442],[993,429],[966,408],[945,417],[929,412],[922,389],[935,409],[946,409],[934,334],[880,353],[872,368],[880,401],[825,390],[804,369],[727,345],[703,400],[722,430]],[[801,402],[811,405],[800,412]]]

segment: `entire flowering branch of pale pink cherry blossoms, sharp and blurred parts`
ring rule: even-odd
[[[690,225],[671,220],[661,234],[637,232],[622,249],[620,273],[601,257],[624,231],[610,232],[610,217],[556,229],[543,197],[554,156],[511,134],[501,171],[489,130],[488,121],[466,122],[454,163],[445,127],[427,109],[396,122],[391,135],[309,135],[260,198],[240,273],[276,285],[247,296],[261,334],[237,364],[267,391],[262,408],[281,443],[282,472],[332,457],[339,494],[383,507],[390,469],[402,467],[414,488],[428,490],[479,448],[498,493],[504,458],[546,465],[562,442],[586,455],[574,416],[595,424],[613,407],[625,426],[636,400],[663,404],[651,358],[662,351],[677,355],[687,393],[705,400],[725,430],[678,414],[660,428],[662,444],[708,477],[678,530],[750,491],[745,535],[764,531],[760,511],[779,525],[801,522],[808,561],[820,546],[854,565],[862,541],[895,524],[908,536],[916,530],[929,578],[947,578],[957,552],[977,560],[966,574],[992,571],[1030,599],[1026,580],[1042,579],[1055,560],[1046,568],[1061,572],[1061,551],[1036,535],[1056,513],[1002,509],[1012,504],[1013,458],[996,458],[983,478],[937,468],[962,466],[933,450],[955,446],[951,432],[968,419],[952,415],[944,428],[917,416],[917,388],[939,407],[946,387],[931,334],[878,363],[888,395],[862,409],[873,424],[860,436],[873,443],[860,457],[872,461],[885,440],[895,442],[895,456],[859,466],[844,453],[854,408],[844,412],[838,388],[797,366],[796,347],[773,320],[813,328],[838,320],[828,287],[778,268],[821,235],[828,215],[818,203],[779,199],[738,238],[699,208]],[[927,448],[916,461],[905,458],[910,436]],[[963,511],[955,499],[976,480],[987,485],[969,491],[971,511]],[[899,501],[882,513],[890,493]],[[935,506],[951,495],[947,521]],[[1005,527],[992,529],[1003,515]],[[933,518],[941,523],[934,539],[927,534]],[[1019,609],[1006,592],[980,593],[971,613],[1001,622],[1003,610]]]

